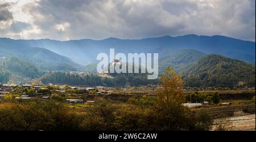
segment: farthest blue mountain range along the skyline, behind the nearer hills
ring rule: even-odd
[[[225,36],[185,35],[143,38],[141,40],[106,38],[105,40],[83,39],[70,41],[0,38],[0,45],[0,49],[9,46],[15,48],[44,48],[64,55],[82,65],[96,63],[97,54],[108,54],[110,48],[114,48],[115,53],[159,53],[159,58],[170,53],[165,50],[192,49],[205,54],[220,54],[229,58],[255,63],[255,42]]]

